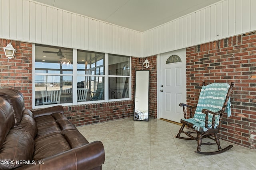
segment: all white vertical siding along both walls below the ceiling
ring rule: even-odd
[[[146,57],[256,30],[256,0],[222,0],[145,32],[30,0],[0,0],[0,37]]]

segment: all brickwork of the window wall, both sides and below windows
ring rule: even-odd
[[[2,47],[11,42],[17,50],[13,59]],[[24,95],[25,107],[32,109],[32,43],[0,39],[0,88],[15,88]],[[156,118],[156,56],[150,60],[150,116]],[[76,126],[133,116],[135,70],[142,70],[144,59],[132,57],[132,100],[64,106],[65,115]]]

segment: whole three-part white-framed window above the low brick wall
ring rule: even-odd
[[[130,57],[38,44],[34,47],[35,108],[130,99]]]

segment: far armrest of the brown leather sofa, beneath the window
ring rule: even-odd
[[[47,108],[43,108],[43,109],[33,110],[32,113],[34,114],[35,117],[39,117],[39,116],[43,116],[43,115],[50,115],[52,113],[64,114],[64,109],[62,106],[52,106],[52,107],[47,107]]]

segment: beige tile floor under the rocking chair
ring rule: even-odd
[[[194,140],[175,138],[180,125],[150,119],[125,118],[78,127],[89,142],[102,141],[103,170],[254,170],[256,150],[234,145],[226,152],[202,155],[194,152]],[[221,140],[222,148],[230,143]],[[202,146],[215,150],[216,145]]]

